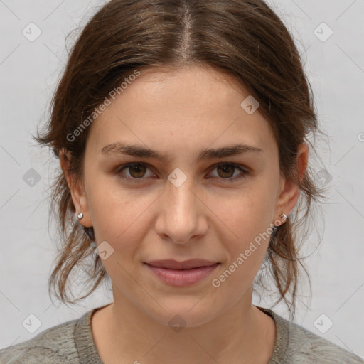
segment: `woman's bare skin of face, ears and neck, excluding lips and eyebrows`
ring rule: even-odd
[[[102,260],[114,302],[92,316],[105,364],[266,364],[272,357],[274,321],[252,305],[269,237],[220,287],[211,283],[299,198],[299,187],[279,173],[268,120],[259,109],[247,114],[240,107],[248,95],[230,76],[207,67],[143,72],[90,126],[83,181],[61,162],[76,211],[84,215],[79,223],[94,227],[97,245],[107,241],[114,249]],[[147,146],[169,159],[103,156],[102,147],[115,141]],[[263,152],[196,161],[201,149],[235,143]],[[301,144],[299,176],[308,153]],[[123,164],[137,162],[146,166],[120,172]],[[250,173],[234,180],[240,170],[220,170],[221,163]],[[168,180],[175,168],[187,178],[179,187]],[[164,284],[143,264],[195,257],[221,264],[190,287]],[[186,321],[178,333],[168,326],[176,314]]]

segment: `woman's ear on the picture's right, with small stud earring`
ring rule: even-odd
[[[306,143],[299,144],[297,150],[297,173],[299,181],[304,178],[307,164],[309,161],[309,147]],[[285,213],[287,216],[294,209],[299,200],[300,188],[294,181],[286,180],[282,177],[281,186],[279,188],[279,197],[277,199],[277,206],[274,212],[275,220],[279,219],[279,215]]]

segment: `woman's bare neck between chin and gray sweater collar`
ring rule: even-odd
[[[120,363],[120,358],[149,364],[267,364],[274,350],[274,321],[251,301],[252,289],[247,299],[193,327],[174,316],[178,328],[156,321],[114,289],[114,303],[94,314],[92,333],[105,364]]]

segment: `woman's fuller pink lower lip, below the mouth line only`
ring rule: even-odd
[[[196,284],[205,277],[208,277],[208,274],[213,272],[219,264],[220,263],[216,263],[210,267],[198,267],[193,269],[166,269],[162,267],[154,267],[149,264],[146,264],[146,266],[149,267],[149,269],[151,269],[151,271],[154,272],[162,282],[170,286],[186,287]]]

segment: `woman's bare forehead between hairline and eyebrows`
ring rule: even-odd
[[[274,148],[269,121],[248,114],[249,93],[230,75],[211,68],[147,70],[92,123],[87,148],[99,154],[117,141],[186,153],[208,146],[247,144]]]

